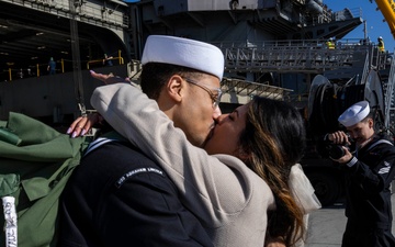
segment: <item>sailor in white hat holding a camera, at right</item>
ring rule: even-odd
[[[394,179],[395,147],[375,133],[373,112],[368,101],[347,109],[338,119],[356,142],[356,150],[342,147],[336,159],[346,175],[346,216],[342,247],[393,247],[393,215],[390,186]],[[335,144],[349,143],[345,132],[327,135]]]

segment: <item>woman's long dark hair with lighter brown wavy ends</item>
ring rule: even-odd
[[[305,125],[300,112],[278,100],[256,97],[249,104],[240,148],[249,154],[247,166],[271,188],[276,210],[268,229],[272,237],[283,237],[286,246],[304,236],[303,211],[291,195],[291,168],[298,162],[306,146]]]

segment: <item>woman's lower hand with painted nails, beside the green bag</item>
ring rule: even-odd
[[[83,136],[102,120],[103,117],[99,113],[90,113],[86,116],[79,116],[71,123],[70,127],[67,130],[67,134],[71,135],[72,138]]]

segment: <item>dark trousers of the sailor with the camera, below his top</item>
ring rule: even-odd
[[[395,247],[395,238],[391,225],[372,227],[348,221],[341,247]]]

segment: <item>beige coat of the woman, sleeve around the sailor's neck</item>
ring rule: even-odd
[[[241,160],[208,156],[192,146],[156,101],[129,85],[95,89],[91,104],[120,134],[159,162],[215,246],[263,246],[267,211],[274,209],[274,198]]]

